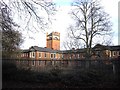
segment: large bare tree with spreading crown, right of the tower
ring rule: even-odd
[[[75,0],[72,4],[71,15],[75,23],[70,26],[69,35],[85,45],[86,58],[91,56],[93,42],[112,34],[109,15],[98,3],[97,0]]]

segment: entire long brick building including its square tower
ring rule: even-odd
[[[27,50],[22,50],[20,57],[32,60],[82,60],[85,59],[85,48],[60,50],[60,33],[52,32],[46,35],[46,47],[31,46]],[[97,44],[92,48],[91,57],[93,60],[118,58],[120,57],[120,45]]]

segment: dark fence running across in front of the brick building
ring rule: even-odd
[[[51,68],[59,69],[97,69],[108,73],[120,73],[120,60],[2,60],[14,63],[18,68],[34,71],[47,71]]]

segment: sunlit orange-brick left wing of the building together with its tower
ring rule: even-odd
[[[27,50],[22,50],[21,58],[34,60],[59,60],[60,51],[60,33],[52,32],[46,34],[46,47],[31,46]]]

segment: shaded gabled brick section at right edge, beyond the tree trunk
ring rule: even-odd
[[[117,58],[120,56],[120,45],[105,46],[97,44],[93,47],[92,52],[96,58]]]

